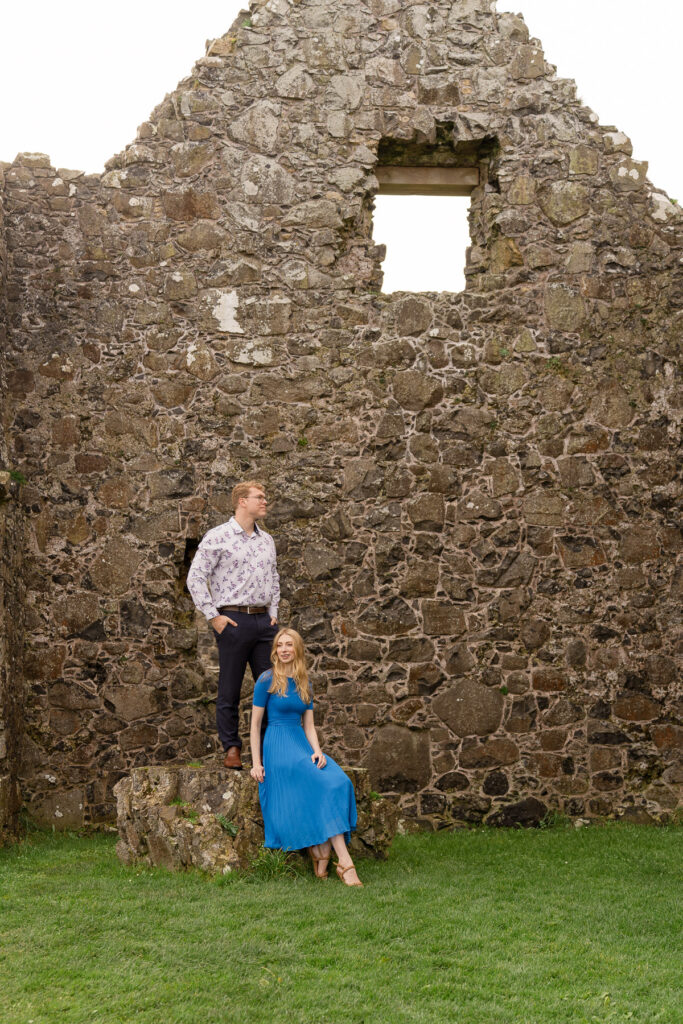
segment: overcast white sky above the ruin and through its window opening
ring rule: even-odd
[[[0,160],[40,152],[55,167],[100,171],[189,73],[205,40],[223,35],[246,6],[246,0],[8,0],[0,38]],[[499,0],[498,9],[523,14],[547,59],[559,75],[577,80],[601,124],[625,131],[636,159],[649,161],[654,184],[683,199],[683,2]],[[389,272],[387,260],[385,291],[462,287],[466,203],[452,203],[452,229],[444,229],[443,209],[436,214],[438,236],[451,239],[449,251],[435,253],[431,268],[420,260],[424,282],[415,276],[414,259],[407,264],[408,284]],[[417,210],[424,232],[426,213]],[[400,220],[378,208],[375,238],[390,255],[409,236],[408,215],[405,201]],[[412,243],[410,250],[415,252]],[[439,269],[445,279],[436,276]]]

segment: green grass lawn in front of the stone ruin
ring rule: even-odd
[[[0,851],[2,1024],[680,1024],[683,830],[395,841],[336,878],[124,868],[115,839]]]

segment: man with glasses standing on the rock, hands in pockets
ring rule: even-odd
[[[257,480],[232,488],[234,515],[203,538],[187,573],[193,601],[218,644],[216,725],[226,768],[242,768],[240,695],[247,664],[256,680],[270,668],[278,627],[280,578],[275,545],[257,525],[267,510]]]

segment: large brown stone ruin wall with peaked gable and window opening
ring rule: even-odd
[[[465,292],[381,293],[378,154],[479,164]],[[215,750],[184,579],[245,476],[407,814],[672,815],[681,221],[520,18],[257,2],[103,175],[4,169],[39,820]]]

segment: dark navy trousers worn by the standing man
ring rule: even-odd
[[[244,611],[226,612],[237,626],[228,623],[222,633],[216,633],[218,644],[218,699],[216,701],[216,725],[218,738],[223,750],[228,746],[242,748],[240,738],[240,696],[247,666],[250,667],[254,682],[262,672],[271,668],[270,651],[278,632],[270,625],[270,615],[248,615]],[[263,716],[265,719],[265,716]],[[261,740],[263,729],[261,730]]]

